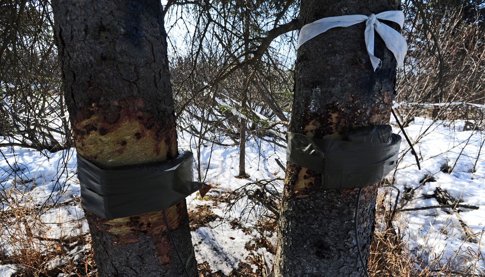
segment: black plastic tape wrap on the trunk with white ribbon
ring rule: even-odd
[[[401,136],[389,125],[352,130],[343,140],[315,139],[288,132],[286,160],[322,174],[328,189],[364,188],[394,168]]]

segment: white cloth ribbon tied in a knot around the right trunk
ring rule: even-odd
[[[366,21],[366,31],[364,33],[366,38],[367,52],[369,53],[370,62],[374,71],[381,64],[381,59],[374,56],[374,30],[384,40],[385,46],[394,53],[398,66],[404,65],[404,56],[407,52],[407,43],[401,33],[392,29],[391,27],[382,24],[377,19],[389,20],[399,24],[404,24],[404,13],[401,11],[387,11],[380,14],[370,16],[352,15],[352,16],[332,16],[318,19],[310,24],[306,24],[301,28],[298,37],[298,48],[308,40],[316,37],[320,33],[325,33],[329,29],[335,27],[349,27],[360,22]]]

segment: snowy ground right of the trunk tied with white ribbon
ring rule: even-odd
[[[479,209],[460,208],[459,213],[438,208],[403,211],[396,226],[411,253],[424,262],[440,261],[457,270],[471,269],[469,274],[483,275],[485,149],[482,146],[485,134],[464,131],[465,125],[465,121],[435,123],[423,135],[430,122],[416,118],[414,124],[406,128],[409,136],[418,140],[415,149],[421,160],[421,170],[409,152],[398,165],[394,172],[395,184],[401,191],[398,208],[444,204],[432,197],[438,188],[451,196],[453,205]],[[395,197],[396,190],[393,193]]]

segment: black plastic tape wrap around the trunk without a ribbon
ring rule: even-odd
[[[81,205],[106,219],[161,211],[203,188],[193,181],[194,155],[188,151],[172,160],[114,170],[77,159]]]

